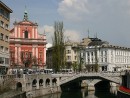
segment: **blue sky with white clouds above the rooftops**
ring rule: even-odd
[[[11,28],[21,21],[25,6],[29,20],[39,24],[51,43],[53,24],[63,21],[66,39],[97,36],[112,45],[130,47],[130,0],[2,0],[11,14]]]

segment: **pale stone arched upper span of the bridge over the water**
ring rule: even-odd
[[[60,76],[60,75],[59,75]],[[108,80],[110,82],[114,82],[117,84],[121,83],[121,73],[80,73],[73,74],[71,77],[62,79],[60,81],[60,85],[65,84],[67,82],[71,82],[76,79],[87,80],[87,79],[100,79],[100,80]]]

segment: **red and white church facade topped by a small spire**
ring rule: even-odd
[[[38,24],[28,20],[27,11],[14,22],[10,34],[10,65],[20,68],[43,68],[46,64],[46,36],[38,33]]]

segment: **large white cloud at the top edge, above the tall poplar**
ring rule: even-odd
[[[63,0],[59,3],[58,12],[66,19],[80,21],[84,14],[89,13],[88,0]]]

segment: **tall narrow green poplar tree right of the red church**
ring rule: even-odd
[[[59,72],[60,69],[65,67],[65,46],[63,30],[63,22],[55,22],[52,63],[56,72]]]

